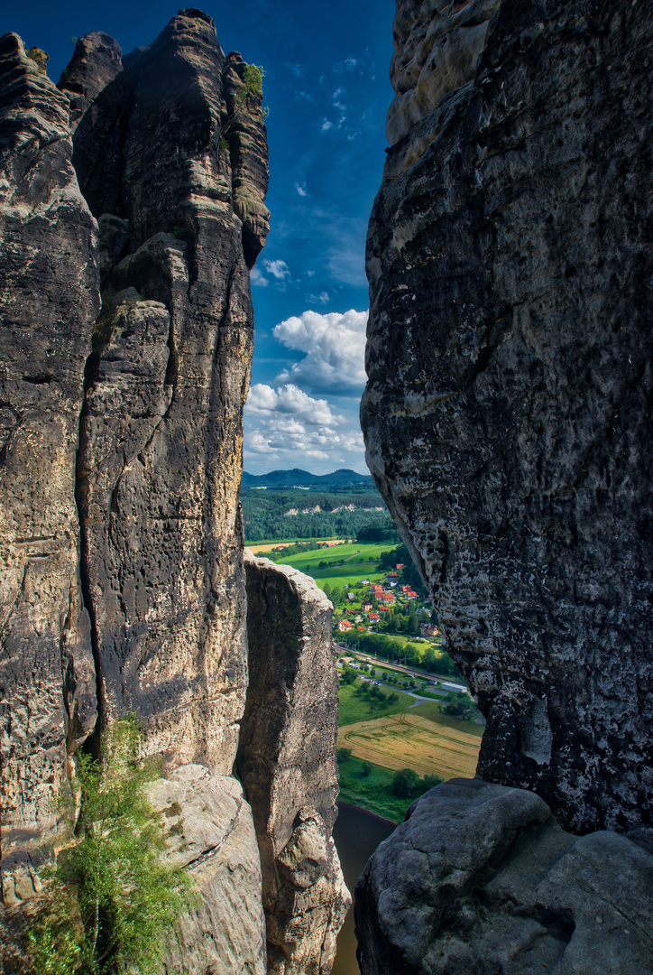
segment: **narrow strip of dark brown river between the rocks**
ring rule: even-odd
[[[338,818],[333,827],[333,840],[342,864],[345,883],[352,897],[356,881],[367,860],[381,840],[389,837],[395,828],[395,823],[381,819],[358,805],[338,802]],[[338,935],[338,951],[331,975],[360,975],[356,960],[353,904]]]

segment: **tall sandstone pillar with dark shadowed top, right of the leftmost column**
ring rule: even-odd
[[[124,62],[109,41],[83,38],[62,83],[89,101],[74,161],[105,286],[77,477],[102,720],[132,709],[146,752],[228,774],[247,683],[238,489],[253,322],[219,145],[225,58],[193,11]],[[257,134],[253,197],[267,179],[260,98],[238,111]],[[266,229],[259,215],[258,249]]]

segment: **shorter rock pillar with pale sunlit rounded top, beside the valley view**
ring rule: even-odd
[[[312,579],[249,556],[250,685],[237,768],[261,851],[270,975],[327,975],[351,904],[331,839],[338,682],[332,606]]]

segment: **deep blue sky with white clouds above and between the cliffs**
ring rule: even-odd
[[[366,473],[358,409],[365,384],[365,232],[385,158],[395,0],[209,2],[225,52],[265,69],[271,230],[251,279],[255,312],[245,468]],[[56,81],[71,37],[112,34],[123,52],[152,41],[177,4],[24,0],[0,12],[50,55]]]

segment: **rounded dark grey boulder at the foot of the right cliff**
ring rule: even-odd
[[[479,779],[413,803],[355,910],[365,975],[653,971],[653,855],[614,833],[578,839],[533,793]]]

